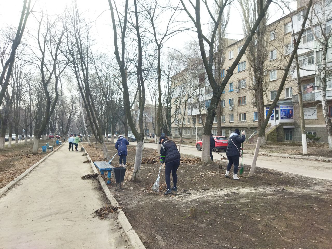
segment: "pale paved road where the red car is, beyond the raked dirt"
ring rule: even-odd
[[[136,145],[136,142],[129,142]],[[157,148],[155,143],[144,143],[147,148]],[[195,147],[181,147],[181,154],[193,155],[201,157],[202,151],[198,151]],[[220,152],[219,152],[220,153]],[[220,159],[217,153],[212,153],[213,157]],[[226,156],[225,152],[220,153]],[[244,154],[243,163],[247,165],[252,164],[254,155]],[[311,160],[271,157],[271,156],[258,156],[256,163],[257,167],[263,167],[268,169],[274,169],[283,172],[289,172],[293,174],[316,177],[322,179],[332,180],[332,163],[331,162],[315,162]],[[249,172],[249,171],[248,171]]]

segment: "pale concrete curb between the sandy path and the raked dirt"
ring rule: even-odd
[[[84,148],[84,146],[82,145],[82,147]],[[107,187],[103,177],[99,174],[99,171],[96,169],[93,161],[91,160],[91,157],[89,156],[89,153],[86,151],[86,149],[84,148],[84,151],[86,153],[86,157],[88,158],[88,160],[90,160],[90,164],[92,166],[93,172],[98,174],[98,180],[100,182],[100,185],[102,186],[107,198],[109,199],[111,205],[113,207],[120,207],[118,201],[113,197],[111,191],[109,190],[109,188]],[[132,229],[132,226],[128,220],[128,218],[125,216],[124,211],[121,209],[118,209],[118,220],[122,226],[122,229],[125,233],[125,235],[127,236],[131,247],[133,249],[145,249],[145,246],[143,245],[142,241],[140,240],[140,238],[138,237],[137,233],[135,232],[134,229]]]

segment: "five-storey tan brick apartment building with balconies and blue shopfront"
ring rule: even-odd
[[[294,33],[299,31],[303,21],[303,7],[298,5],[299,9],[267,26],[268,57],[264,68],[264,106],[267,110],[274,100],[281,79],[284,75],[284,68],[287,64],[290,53],[292,52],[292,27]],[[305,10],[304,10],[305,11]],[[332,18],[332,17],[331,17]],[[317,67],[315,61],[319,61],[319,51],[316,41],[312,39],[312,33],[309,25],[307,26],[300,47],[298,50],[299,62],[301,68],[311,69]],[[231,66],[234,58],[240,51],[245,39],[235,41],[229,40],[229,45],[225,49],[225,63],[220,72],[220,77],[225,76],[226,69]],[[332,60],[329,55],[328,61]],[[184,138],[202,138],[203,123],[205,121],[206,108],[212,95],[212,89],[207,81],[202,61],[194,60],[195,63],[188,63],[188,68],[172,77],[172,87],[174,88],[172,118],[175,122],[172,124],[172,134],[179,137],[178,124],[180,127],[183,122]],[[192,62],[192,61],[191,61]],[[193,64],[195,64],[193,66]],[[331,62],[332,65],[332,62]],[[287,77],[284,90],[280,100],[271,115],[269,125],[266,130],[267,140],[272,141],[300,141],[301,127],[298,105],[298,86],[295,67],[290,70]],[[306,131],[310,134],[321,136],[320,142],[327,142],[326,125],[322,117],[322,108],[320,102],[320,88],[317,86],[316,73],[314,71],[300,70],[301,85],[303,89],[304,114]],[[186,75],[186,77],[184,77]],[[189,83],[188,83],[189,81]],[[257,130],[257,107],[253,98],[253,71],[247,61],[246,54],[243,55],[234,75],[228,81],[224,92],[221,95],[222,109],[222,134],[229,136],[231,132],[238,128],[245,130],[247,137],[255,141],[255,131]],[[332,96],[332,78],[328,78],[328,96]],[[192,93],[195,92],[193,95]],[[189,98],[187,108],[184,110],[184,101],[179,101],[179,95],[183,98]],[[195,99],[196,95],[196,99]],[[332,100],[332,97],[328,97]],[[332,101],[329,110],[332,109]],[[330,112],[331,113],[331,112]],[[179,120],[177,119],[179,117]],[[183,119],[184,118],[184,119]],[[214,118],[212,133],[217,132],[217,118]],[[269,135],[271,133],[271,135]],[[272,135],[277,133],[277,135]],[[325,136],[324,136],[325,134]]]

